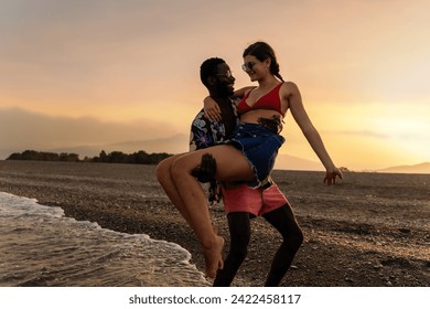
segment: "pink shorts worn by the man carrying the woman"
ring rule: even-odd
[[[255,216],[262,215],[288,203],[276,183],[267,189],[252,189],[247,184],[238,187],[222,185],[225,212],[248,212]]]

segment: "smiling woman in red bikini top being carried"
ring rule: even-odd
[[[181,199],[184,206],[182,215],[198,237],[205,256],[206,275],[212,278],[223,267],[224,239],[214,231],[205,192],[192,175],[203,154],[209,153],[216,160],[217,180],[247,181],[249,185],[260,185],[270,174],[278,149],[284,141],[279,132],[282,129],[281,120],[290,109],[326,169],[324,182],[332,184],[337,175],[342,178],[304,110],[299,88],[291,82],[282,81],[273,50],[264,42],[251,44],[244,52],[243,68],[252,82],[258,82],[258,86],[247,92],[238,104],[241,124],[233,138],[225,145],[179,156],[174,162],[170,162],[172,185],[169,191]]]

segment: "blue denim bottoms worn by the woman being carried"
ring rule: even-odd
[[[257,188],[269,177],[278,149],[284,141],[282,136],[266,129],[260,124],[241,122],[225,143],[233,145],[247,158],[256,175],[256,181],[248,182],[248,185]]]

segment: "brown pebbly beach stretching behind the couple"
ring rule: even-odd
[[[203,256],[185,221],[155,180],[154,166],[0,161],[0,191],[60,206],[101,227],[144,233]],[[430,286],[430,174],[345,173],[325,187],[323,172],[275,171],[304,232],[282,286]],[[146,196],[157,192],[157,198]],[[213,220],[226,238],[222,205]],[[234,286],[262,286],[281,238],[264,219],[251,223],[248,257]]]

